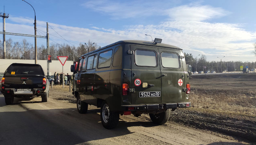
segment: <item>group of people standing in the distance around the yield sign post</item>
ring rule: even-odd
[[[68,73],[65,74],[63,72],[61,73],[54,73],[54,84],[62,85],[63,83],[63,75],[64,75],[64,82],[65,85],[69,85],[73,83],[73,75],[69,75]]]

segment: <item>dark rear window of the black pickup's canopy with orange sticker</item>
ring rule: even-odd
[[[40,66],[10,66],[5,75],[44,75]]]

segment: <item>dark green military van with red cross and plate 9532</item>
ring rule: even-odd
[[[182,49],[161,41],[123,40],[82,55],[71,65],[78,112],[100,107],[103,127],[112,129],[119,115],[148,113],[164,124],[171,111],[191,107]]]

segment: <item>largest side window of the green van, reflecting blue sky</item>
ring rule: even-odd
[[[112,49],[99,54],[98,68],[110,67],[112,58]]]

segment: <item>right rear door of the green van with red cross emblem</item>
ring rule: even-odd
[[[162,48],[158,50],[162,76],[162,103],[185,101],[185,74],[180,58],[181,51]]]

